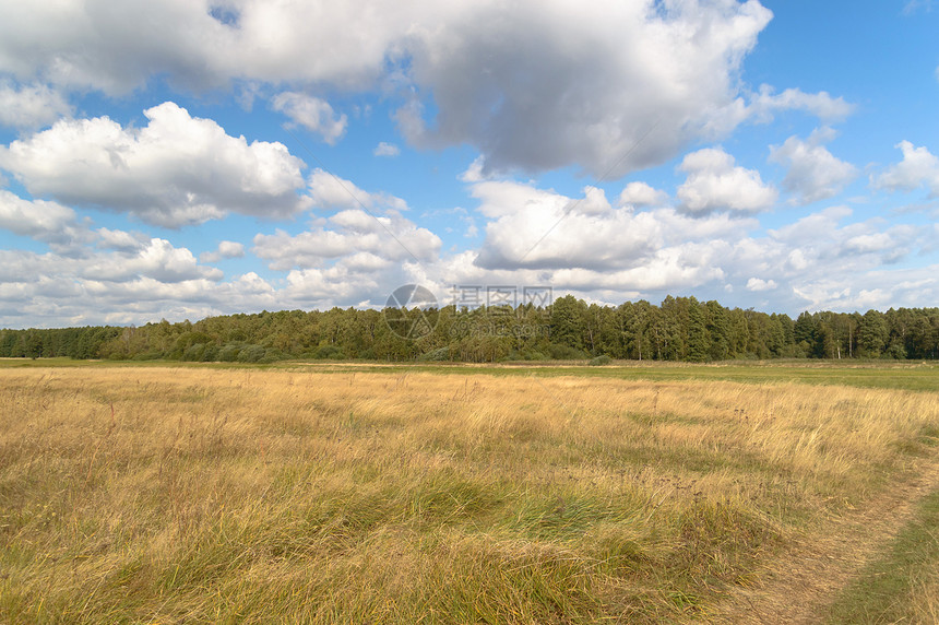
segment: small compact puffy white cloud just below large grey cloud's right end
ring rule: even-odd
[[[676,194],[690,214],[715,211],[752,214],[772,208],[778,197],[772,186],[763,184],[759,172],[735,166],[734,157],[721,149],[692,152],[679,169],[688,178]]]

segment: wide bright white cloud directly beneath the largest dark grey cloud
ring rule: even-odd
[[[473,185],[471,192],[479,200],[476,211],[489,219],[474,267],[531,271],[569,285],[589,281],[634,290],[668,283],[668,276],[713,276],[720,273],[709,264],[714,257],[704,253],[706,246],[699,241],[752,225],[727,215],[692,219],[670,208],[614,208],[595,187],[570,198],[531,185],[487,180]]]

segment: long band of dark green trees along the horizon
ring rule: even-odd
[[[619,306],[573,296],[549,306],[333,308],[142,327],[0,330],[0,357],[270,363],[296,358],[499,362],[710,362],[939,356],[939,308],[787,315],[694,297]]]

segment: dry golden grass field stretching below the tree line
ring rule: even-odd
[[[937,443],[926,365],[7,361],[0,623],[935,623]]]

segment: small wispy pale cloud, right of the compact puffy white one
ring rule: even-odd
[[[808,140],[793,135],[782,145],[770,148],[770,162],[788,166],[783,188],[808,204],[836,196],[857,177],[857,168],[836,158],[823,143],[834,138],[828,128],[816,130]]]

